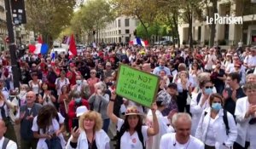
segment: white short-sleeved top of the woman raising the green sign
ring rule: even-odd
[[[119,131],[122,125],[125,123],[123,119],[118,119],[117,130]],[[148,126],[142,127],[143,140],[148,140]],[[143,144],[137,135],[137,131],[134,134],[130,135],[129,132],[125,131],[124,135],[121,136],[120,146],[122,149],[143,149]]]

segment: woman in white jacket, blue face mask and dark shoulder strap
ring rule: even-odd
[[[201,114],[195,137],[205,143],[206,149],[231,148],[237,137],[234,117],[223,109],[221,95],[212,94],[209,105]]]

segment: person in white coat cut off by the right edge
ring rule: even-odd
[[[236,101],[236,122],[238,136],[234,149],[256,147],[256,83],[246,83],[243,87],[247,97]]]

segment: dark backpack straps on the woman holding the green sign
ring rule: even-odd
[[[123,124],[122,127],[121,127],[121,129],[120,129],[120,131],[119,131],[118,134],[117,134],[118,140],[117,140],[117,144],[116,144],[115,149],[120,149],[121,137],[125,134],[125,131],[126,131],[126,130],[125,130],[125,126],[124,126],[124,124]],[[139,140],[140,140],[140,141],[142,142],[142,144],[143,144],[143,149],[146,149],[145,144],[144,144],[142,129],[137,130],[137,135],[138,135]]]

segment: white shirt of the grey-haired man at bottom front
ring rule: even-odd
[[[179,144],[175,137],[176,133],[163,135],[160,140],[160,149],[204,149],[205,145],[201,140],[190,135],[189,141],[183,145]]]

